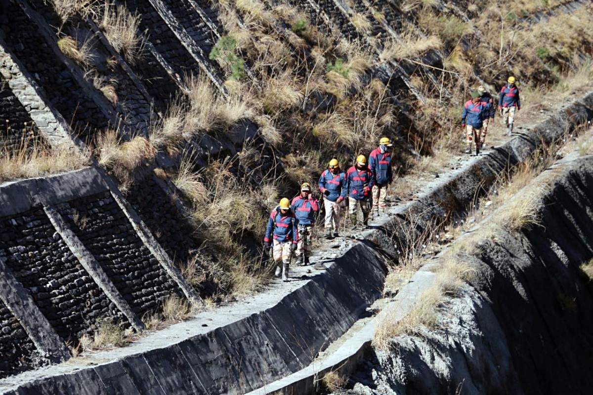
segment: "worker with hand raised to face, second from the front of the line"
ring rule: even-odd
[[[297,266],[308,265],[313,247],[311,233],[319,212],[319,201],[311,195],[311,184],[302,183],[301,193],[292,199],[291,209],[297,218]]]

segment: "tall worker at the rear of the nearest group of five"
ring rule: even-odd
[[[389,147],[393,146],[388,137],[381,137],[379,146],[369,155],[369,170],[373,177],[372,209],[375,217],[379,216],[379,209],[385,214],[387,204],[387,186],[393,181],[391,170],[391,153]]]

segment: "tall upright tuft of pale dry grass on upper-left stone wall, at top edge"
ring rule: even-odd
[[[113,48],[123,54],[126,62],[135,64],[141,57],[145,39],[139,33],[141,17],[132,15],[125,5],[105,2],[99,27]]]

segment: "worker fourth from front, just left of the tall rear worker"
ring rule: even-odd
[[[366,165],[364,155],[359,155],[356,158],[354,165],[346,172],[346,177],[348,179],[349,211],[352,230],[358,227],[356,214],[359,205],[362,211],[362,224],[366,227],[368,226],[369,214],[372,207],[371,188],[374,184],[374,178],[368,165]]]

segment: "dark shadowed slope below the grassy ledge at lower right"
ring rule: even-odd
[[[479,242],[479,275],[448,298],[438,329],[398,336],[341,393],[589,393],[593,288],[579,266],[593,257],[592,203],[585,157],[544,198],[541,226]]]

